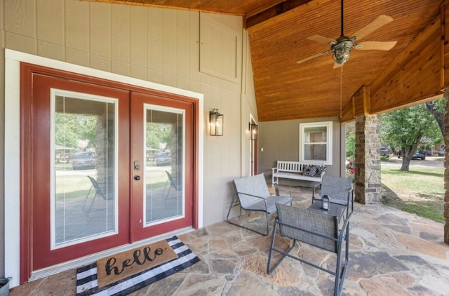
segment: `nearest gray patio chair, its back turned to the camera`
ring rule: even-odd
[[[290,257],[335,276],[334,295],[341,295],[344,278],[346,278],[348,270],[349,220],[351,219],[352,214],[349,214],[349,217],[344,220],[342,228],[339,229],[338,218],[333,215],[316,212],[314,210],[295,208],[279,203],[277,203],[276,206],[278,217],[274,222],[272,242],[270,244],[268,255],[267,272],[273,274],[285,257]],[[278,226],[279,233],[277,232]],[[276,236],[279,235],[293,240],[291,247],[287,251],[279,250],[275,247]],[[296,241],[301,241],[335,253],[335,255],[337,255],[335,269],[327,269],[314,264],[311,261],[304,260],[297,255],[290,255],[290,251],[295,247]],[[343,248],[344,257],[342,258]],[[273,252],[280,253],[282,256],[272,267]],[[334,265],[330,264],[330,266],[333,267]]]

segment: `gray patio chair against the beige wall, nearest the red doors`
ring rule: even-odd
[[[234,197],[232,199],[231,206],[229,206],[226,221],[230,224],[234,224],[244,229],[254,231],[257,234],[262,234],[264,236],[269,234],[268,217],[276,213],[276,203],[291,204],[293,201],[291,197],[291,191],[290,196],[269,194],[267,182],[265,181],[263,173],[251,177],[236,179],[234,180],[234,184],[236,187],[236,193],[234,194]],[[229,220],[229,213],[231,213],[232,208],[234,208],[235,206],[240,206],[240,215],[242,208],[246,211],[263,212],[265,214],[265,219],[267,222],[267,231],[261,232],[253,227],[246,227],[242,224],[238,224],[236,222],[233,222],[232,220]]]

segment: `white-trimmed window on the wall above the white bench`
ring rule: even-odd
[[[300,123],[300,161],[332,165],[332,121]]]

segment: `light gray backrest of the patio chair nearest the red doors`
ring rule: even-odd
[[[242,208],[249,208],[253,203],[261,201],[253,196],[246,194],[259,196],[264,199],[271,196],[268,191],[267,182],[265,181],[264,174],[254,175],[250,177],[243,177],[234,180],[236,185],[236,191],[239,194],[239,200]]]

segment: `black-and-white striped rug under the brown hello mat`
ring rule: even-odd
[[[149,269],[145,269],[143,271],[138,271],[130,276],[122,276],[118,281],[107,283],[104,286],[100,286],[98,281],[98,277],[101,274],[101,271],[98,272],[97,268],[100,266],[98,265],[100,260],[98,260],[98,262],[94,262],[93,264],[76,269],[76,295],[128,295],[131,292],[135,292],[136,290],[159,281],[162,278],[175,274],[177,271],[186,269],[187,267],[190,267],[200,261],[192,250],[187,248],[187,245],[182,243],[177,236],[168,238],[166,243],[170,245],[170,248],[174,251],[175,255],[177,255],[175,259],[159,264],[158,266],[149,267]],[[133,260],[134,257],[131,261]],[[131,263],[118,260],[116,262],[122,262],[124,265]],[[122,263],[115,263],[114,267],[117,267],[118,269],[112,269],[112,273],[114,273],[115,270],[120,271],[123,267]]]

